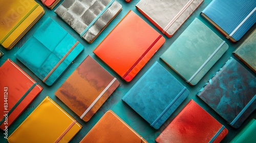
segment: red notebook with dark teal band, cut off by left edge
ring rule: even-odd
[[[36,98],[42,87],[10,59],[0,67],[0,77],[0,93],[3,96],[0,112],[5,115],[0,118],[0,128],[5,130]]]

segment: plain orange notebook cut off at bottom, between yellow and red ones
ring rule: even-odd
[[[122,121],[113,111],[107,111],[82,142],[144,142],[147,141]]]

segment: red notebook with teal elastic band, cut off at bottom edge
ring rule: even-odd
[[[156,142],[220,142],[228,133],[214,117],[190,100]]]

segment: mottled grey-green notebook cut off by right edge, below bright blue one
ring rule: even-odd
[[[233,52],[256,73],[256,30]]]

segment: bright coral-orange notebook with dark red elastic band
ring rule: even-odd
[[[130,10],[93,53],[129,82],[164,42],[161,34]]]

